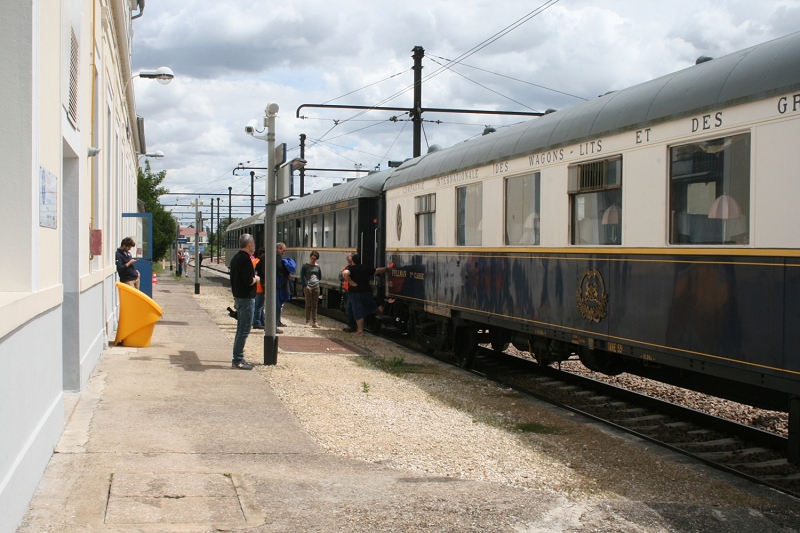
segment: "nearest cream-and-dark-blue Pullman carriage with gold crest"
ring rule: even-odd
[[[577,354],[800,410],[800,33],[407,161],[387,291],[430,349]]]

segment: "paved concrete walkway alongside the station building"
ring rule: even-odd
[[[788,530],[742,508],[575,502],[328,455],[258,372],[231,369],[190,290],[159,283],[152,346],[103,354],[20,532]]]

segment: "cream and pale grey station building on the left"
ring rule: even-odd
[[[15,0],[0,17],[2,533],[61,436],[65,397],[114,341],[114,253],[137,234],[122,213],[137,211],[145,152],[130,83],[139,2]]]

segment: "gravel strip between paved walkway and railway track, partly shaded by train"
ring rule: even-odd
[[[204,287],[200,304],[233,339],[228,289]],[[765,504],[715,473],[572,413],[522,397],[372,335],[321,317],[304,326],[286,306],[285,336],[322,336],[361,355],[286,354],[257,366],[331,454],[431,475],[552,492],[571,501],[631,499],[685,505]],[[261,359],[251,337],[248,359]]]

